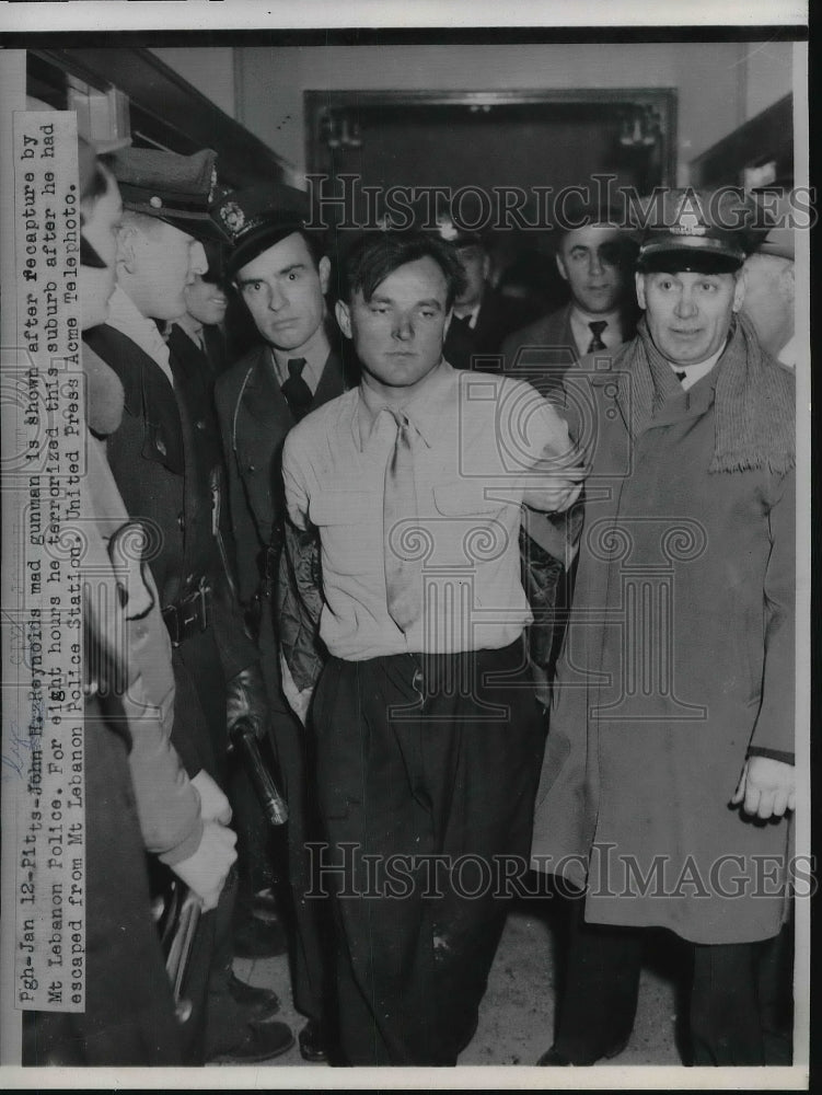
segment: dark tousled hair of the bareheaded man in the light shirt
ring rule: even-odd
[[[456,247],[426,232],[368,232],[343,255],[339,266],[339,298],[347,303],[359,289],[370,300],[377,287],[395,269],[419,258],[431,258],[442,270],[450,309],[465,288]]]

